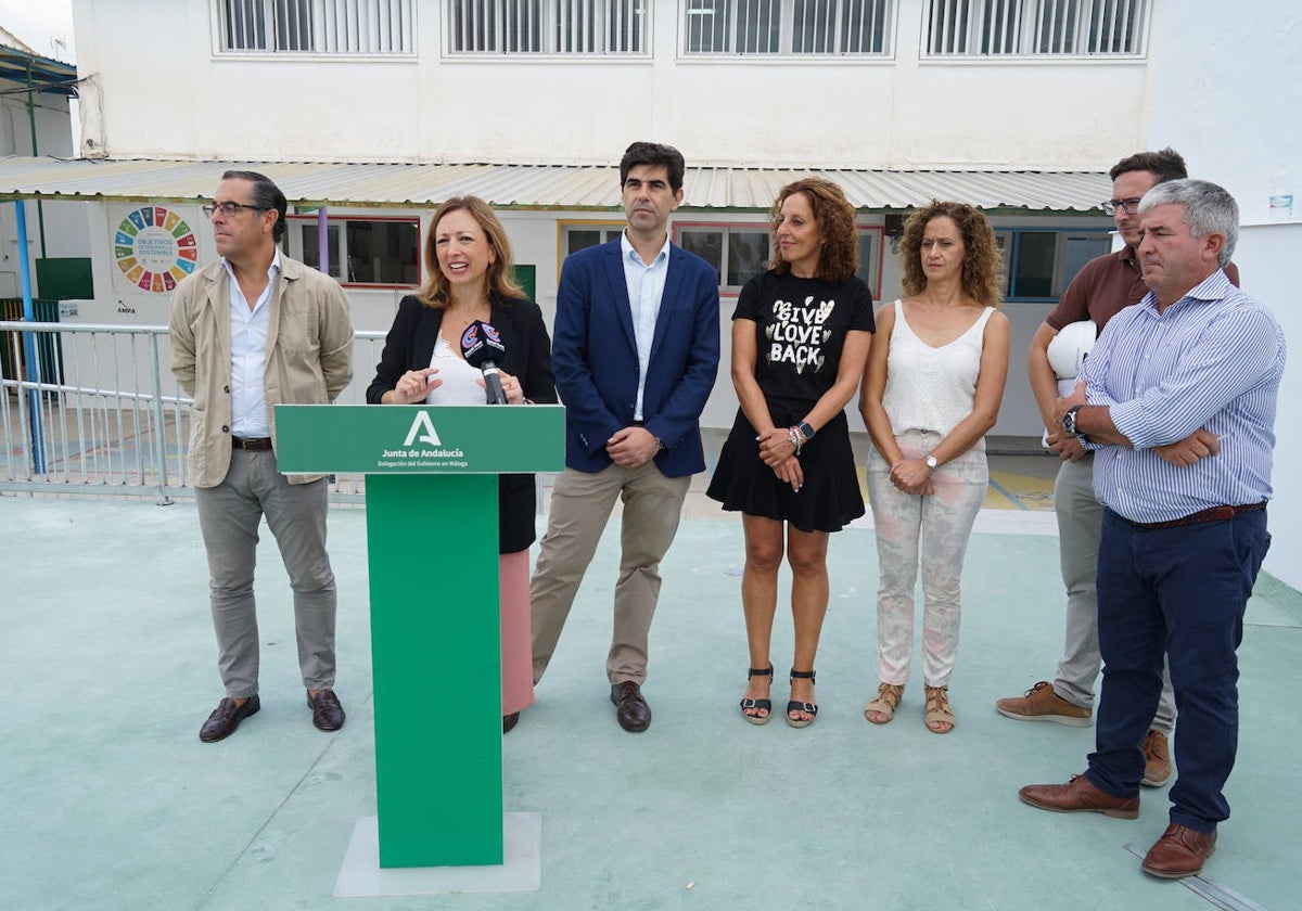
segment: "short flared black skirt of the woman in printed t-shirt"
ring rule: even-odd
[[[790,427],[805,413],[771,409],[777,427]],[[863,515],[863,492],[854,470],[850,424],[836,415],[801,448],[805,484],[799,492],[777,479],[759,458],[755,428],[737,410],[737,420],[719,453],[719,467],[706,495],[729,511],[790,522],[801,531],[840,531]]]

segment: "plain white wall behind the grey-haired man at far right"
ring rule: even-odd
[[[1173,4],[1168,4],[1173,5]],[[1234,260],[1243,290],[1271,307],[1292,347],[1276,419],[1275,543],[1266,569],[1302,588],[1302,312],[1298,308],[1295,224],[1267,221],[1271,173],[1286,164],[1302,178],[1302,81],[1297,48],[1302,8],[1277,0],[1242,0],[1226,8],[1212,0],[1180,4],[1155,30],[1152,116],[1148,146],[1170,144],[1190,172],[1215,181],[1238,200],[1242,223]],[[1228,18],[1232,17],[1232,18]],[[1298,190],[1295,190],[1298,193]]]

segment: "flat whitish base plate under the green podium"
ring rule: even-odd
[[[336,898],[436,895],[457,891],[538,891],[543,880],[542,813],[503,813],[504,860],[495,867],[380,868],[380,821],[363,816],[353,826]]]

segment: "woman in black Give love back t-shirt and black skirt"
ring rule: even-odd
[[[786,724],[805,727],[818,714],[814,657],[827,613],[828,534],[863,515],[844,409],[868,357],[872,297],[854,275],[854,208],[841,187],[797,181],[783,187],[771,215],[769,269],[746,282],[733,312],[741,409],[708,496],[742,513],[746,535],[742,717],[762,725],[772,714],[768,649],[785,552],[796,626]]]

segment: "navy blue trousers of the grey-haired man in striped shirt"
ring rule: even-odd
[[[1086,777],[1118,798],[1139,794],[1141,744],[1161,694],[1163,651],[1176,688],[1170,821],[1215,832],[1238,747],[1243,609],[1271,545],[1266,510],[1223,522],[1141,528],[1111,509],[1099,541],[1103,692]]]

